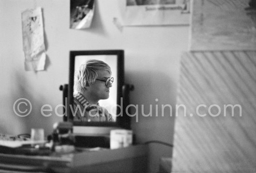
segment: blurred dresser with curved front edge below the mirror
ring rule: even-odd
[[[71,153],[51,153],[49,156],[0,153],[0,171],[45,173],[124,173],[147,171],[147,145],[119,149]]]

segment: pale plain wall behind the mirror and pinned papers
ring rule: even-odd
[[[130,101],[140,107],[138,122],[132,120],[137,140],[173,142],[174,117],[167,109],[162,117],[161,105],[170,104],[175,113],[179,60],[182,51],[187,51],[189,26],[124,27],[119,31],[112,21],[121,18],[120,4],[121,0],[96,0],[91,28],[72,30],[69,0],[0,0],[0,133],[30,133],[32,127],[52,132],[54,122],[62,118],[54,112],[43,117],[40,107],[62,104],[59,86],[68,82],[70,50],[124,49],[125,81],[135,86]],[[37,73],[24,70],[21,31],[21,12],[35,6],[43,8],[47,46],[47,70]],[[25,118],[13,113],[13,103],[19,98],[33,105]],[[143,117],[141,105],[147,114],[150,104],[153,116]],[[170,156],[172,149],[159,144],[150,144],[150,148],[150,172],[157,172],[159,156]]]

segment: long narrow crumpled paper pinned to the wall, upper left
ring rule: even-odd
[[[41,7],[25,10],[21,18],[25,70],[44,70],[46,53]]]

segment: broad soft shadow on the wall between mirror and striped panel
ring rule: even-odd
[[[175,82],[166,73],[155,72],[154,69],[146,72],[127,72],[126,82],[135,86],[135,90],[130,93],[130,104],[138,105],[138,110],[136,113],[136,108],[131,107],[130,113],[137,114],[137,117],[132,117],[132,129],[137,142],[159,140],[172,144],[177,87]],[[142,105],[144,107],[141,107]],[[172,111],[169,107],[162,110],[162,105],[172,106]],[[148,116],[142,115],[142,111]],[[152,143],[149,147],[149,172],[158,172],[160,158],[171,157],[173,149],[157,143]]]

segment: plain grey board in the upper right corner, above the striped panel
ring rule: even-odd
[[[250,2],[194,0],[190,50],[256,50],[256,5]]]

